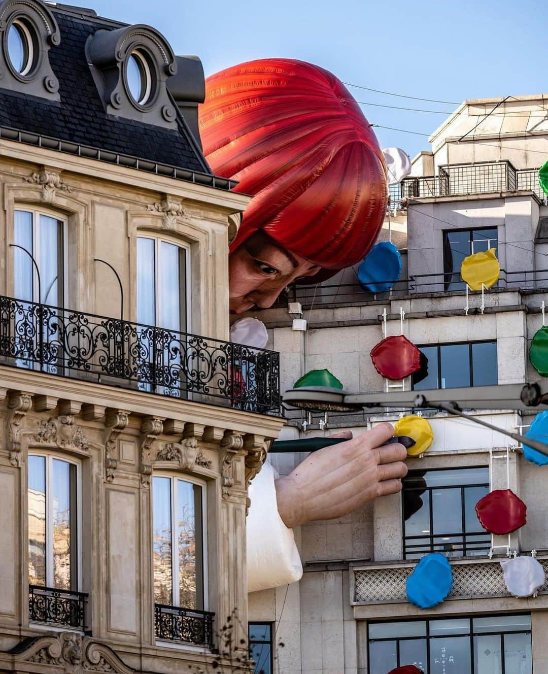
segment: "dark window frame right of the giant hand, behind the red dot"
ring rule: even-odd
[[[483,468],[484,470],[485,470],[485,468],[487,468],[487,470],[489,470],[489,466],[458,466],[457,468],[454,468],[454,467],[452,467],[452,468],[431,468],[430,471],[427,470],[426,472],[431,472],[431,471],[434,471],[434,470],[438,471],[438,472],[449,471],[449,470],[473,470],[475,468]],[[411,475],[413,475],[413,472],[415,472],[415,471],[410,470]],[[406,476],[406,477],[408,477],[408,476]],[[405,480],[406,480],[406,478],[403,478],[402,482],[404,483]],[[460,557],[467,557],[468,559],[473,558],[473,557],[481,556],[481,555],[466,555],[466,547],[467,547],[466,537],[470,537],[470,536],[473,537],[475,535],[475,533],[477,533],[478,535],[484,535],[484,533],[485,533],[486,536],[490,537],[490,534],[488,534],[487,532],[473,532],[473,533],[467,533],[466,532],[466,508],[465,508],[466,501],[465,501],[465,498],[464,498],[464,489],[466,489],[466,487],[487,487],[487,489],[489,490],[489,489],[491,489],[491,485],[489,483],[489,480],[490,480],[490,474],[488,474],[487,483],[475,483],[475,484],[466,484],[466,485],[446,485],[446,486],[442,486],[442,487],[440,487],[439,485],[437,487],[428,487],[427,486],[426,489],[425,489],[425,492],[428,493],[428,498],[429,498],[429,526],[430,526],[430,531],[429,531],[429,534],[424,534],[422,537],[421,536],[406,536],[405,535],[405,512],[404,512],[404,501],[403,501],[405,484],[403,484],[402,492],[401,492],[402,493],[402,550],[403,550],[403,559],[417,560],[417,557],[407,557],[406,554],[427,555],[429,553],[437,552],[437,553],[440,553],[440,554],[443,555],[444,551],[434,549],[434,547],[439,547],[439,545],[442,545],[442,544],[441,543],[434,543],[433,539],[439,539],[439,538],[444,537],[444,536],[449,536],[449,537],[452,537],[452,538],[456,538],[456,537],[462,538],[462,555],[454,555],[454,557],[450,557],[450,559],[454,559],[454,558],[459,557],[459,556]],[[460,489],[460,517],[461,517],[460,521],[461,521],[461,526],[462,526],[461,532],[459,532],[459,533],[447,532],[447,533],[439,533],[439,534],[433,533],[433,517],[434,517],[434,514],[433,514],[433,508],[432,508],[432,500],[433,500],[432,499],[432,491],[434,489]],[[411,490],[409,489],[408,491],[411,491]],[[406,543],[406,541],[408,541],[409,539],[415,539],[415,540],[417,540],[417,543],[415,545],[413,545],[412,543]],[[411,551],[406,550],[406,548],[408,548],[408,547],[409,548],[418,547],[418,545],[419,545],[419,543],[422,539],[429,539],[429,547],[428,548],[425,548],[423,551],[415,551],[415,552],[411,552]],[[476,545],[476,544],[475,543],[468,543],[468,547],[470,547],[472,545]],[[489,548],[488,549],[491,549],[491,538],[489,538]]]

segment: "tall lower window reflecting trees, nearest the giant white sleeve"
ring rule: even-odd
[[[205,485],[155,476],[154,601],[204,610]]]

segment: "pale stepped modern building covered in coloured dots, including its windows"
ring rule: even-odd
[[[466,101],[433,133],[431,150],[391,188],[392,241],[404,259],[392,290],[366,293],[355,271],[346,270],[317,287],[288,288],[285,301],[257,314],[281,354],[282,390],[324,368],[361,393],[495,391],[497,384],[540,379],[528,346],[546,321],[548,206],[537,182],[548,158],[545,109],[546,95]],[[385,239],[388,230],[387,218]],[[460,263],[489,248],[496,249],[500,280],[467,295]],[[288,302],[301,303],[306,332],[292,329]],[[371,363],[371,348],[401,333],[427,355],[421,381],[389,382]],[[404,413],[333,413],[326,420],[293,410],[282,437],[357,434]],[[428,674],[547,671],[548,584],[538,596],[516,599],[499,563],[532,554],[548,570],[545,468],[527,462],[518,443],[501,433],[442,412],[419,413],[434,441],[423,458],[408,460],[402,494],[303,526],[302,580],[250,595],[250,620],[272,625],[273,671],[386,674],[406,664]],[[503,429],[525,431],[532,420],[512,409],[472,413]],[[269,460],[287,474],[302,458]],[[474,505],[508,487],[526,503],[527,523],[510,538],[491,537]],[[423,611],[408,603],[406,578],[431,551],[448,556],[454,583],[444,603]]]

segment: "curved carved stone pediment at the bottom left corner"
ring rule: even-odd
[[[23,671],[26,663],[57,667],[65,674],[132,674],[135,669],[125,665],[121,658],[105,644],[94,642],[91,637],[75,632],[58,635],[29,637],[11,651],[15,671]],[[49,669],[49,668],[48,668]]]

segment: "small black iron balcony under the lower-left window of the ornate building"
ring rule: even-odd
[[[31,622],[63,625],[84,630],[85,592],[69,592],[39,585],[28,586],[28,615]]]

